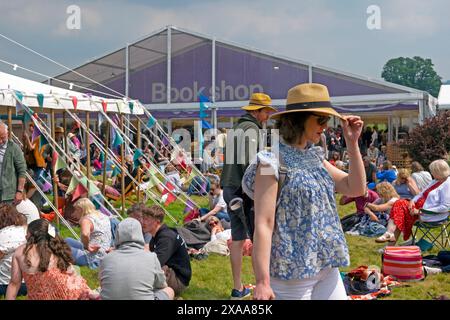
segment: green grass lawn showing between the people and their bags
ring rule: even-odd
[[[206,206],[206,199],[196,198],[199,204]],[[176,218],[182,219],[184,205],[174,202],[168,207],[168,211]],[[356,211],[354,204],[338,206],[341,217]],[[168,225],[173,222],[166,218]],[[71,236],[69,230],[62,228],[63,236]],[[351,266],[343,268],[341,271],[349,271],[360,265],[377,265],[381,267],[381,255],[378,250],[383,244],[375,243],[373,238],[346,235],[350,248]],[[433,249],[427,254],[436,254],[438,250]],[[185,300],[216,300],[228,299],[232,287],[231,267],[229,257],[210,255],[205,260],[192,260],[192,280],[189,288],[183,293]],[[255,283],[252,272],[251,258],[244,257],[243,265],[244,283]],[[99,281],[97,271],[87,267],[81,268],[81,274],[87,279],[91,288],[97,288]],[[431,299],[439,295],[450,295],[450,275],[439,274],[428,276],[425,281],[411,282],[402,287],[395,287],[392,295],[383,299],[387,300],[418,300]]]

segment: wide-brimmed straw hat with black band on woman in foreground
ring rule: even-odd
[[[328,88],[319,83],[304,83],[288,91],[286,111],[272,114],[272,119],[279,119],[281,115],[293,112],[315,112],[343,119],[331,106]]]

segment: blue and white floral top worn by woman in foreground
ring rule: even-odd
[[[275,214],[270,276],[299,280],[316,276],[327,267],[350,265],[334,197],[334,181],[323,165],[321,147],[300,150],[280,143],[288,173]],[[261,151],[242,180],[244,192],[253,199],[256,169],[270,165],[278,180],[278,159]]]

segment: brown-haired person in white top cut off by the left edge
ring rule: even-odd
[[[0,296],[6,294],[11,280],[14,251],[26,242],[27,219],[11,204],[0,204]],[[27,294],[27,287],[19,283],[16,295]]]

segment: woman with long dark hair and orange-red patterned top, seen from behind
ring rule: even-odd
[[[6,299],[14,300],[22,285],[28,300],[78,300],[98,297],[78,275],[73,266],[70,247],[45,219],[28,226],[26,244],[14,253],[11,282]]]

